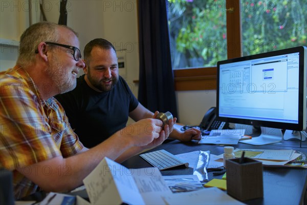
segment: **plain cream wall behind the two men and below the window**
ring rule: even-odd
[[[12,3],[14,1],[8,2]],[[59,18],[59,1],[44,1],[43,8],[45,9],[47,20],[57,23]],[[67,4],[67,11],[67,24],[79,33],[80,50],[82,53],[86,43],[94,38],[102,37],[113,43],[119,56],[125,56],[127,69],[125,79],[133,93],[138,96],[138,85],[133,83],[133,80],[139,79],[136,1],[71,0]],[[13,8],[13,12],[8,10],[6,13],[10,17],[4,19],[3,11],[1,11],[1,25],[4,22],[6,22],[5,27],[17,25],[16,28],[11,28],[7,33],[9,34],[8,37],[12,36],[11,38],[13,39],[19,39],[24,28],[18,27],[20,19],[13,16],[16,15],[16,9]],[[21,23],[26,25],[24,22]],[[1,27],[2,30],[3,27]],[[0,37],[3,38],[2,36],[3,34],[1,33]],[[11,55],[11,57],[7,58],[14,59],[14,57],[14,55]],[[14,60],[11,61],[14,62]],[[3,59],[1,59],[1,62],[4,62]],[[2,65],[3,63],[1,63],[0,67]],[[176,96],[179,111],[178,117],[183,124],[199,125],[205,112],[210,107],[215,106],[215,91],[178,91]],[[130,122],[131,120],[128,121],[128,123]]]

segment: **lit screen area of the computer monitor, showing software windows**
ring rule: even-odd
[[[220,65],[219,116],[298,124],[299,52]]]

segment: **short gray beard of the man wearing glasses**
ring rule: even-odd
[[[56,58],[53,58],[50,65],[51,66],[47,69],[47,73],[53,80],[59,94],[71,91],[76,87],[76,79],[74,79],[73,76],[70,76],[73,75],[73,68],[65,70],[64,66],[62,66]],[[64,72],[67,70],[70,70],[71,72]]]

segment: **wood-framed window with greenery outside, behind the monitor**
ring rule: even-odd
[[[218,60],[306,45],[304,0],[168,3],[176,90],[216,89]]]

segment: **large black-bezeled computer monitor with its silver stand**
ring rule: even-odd
[[[306,59],[300,46],[218,61],[217,119],[248,125],[248,134],[261,128],[259,137],[241,141],[252,145],[281,141],[280,129],[304,130]]]

